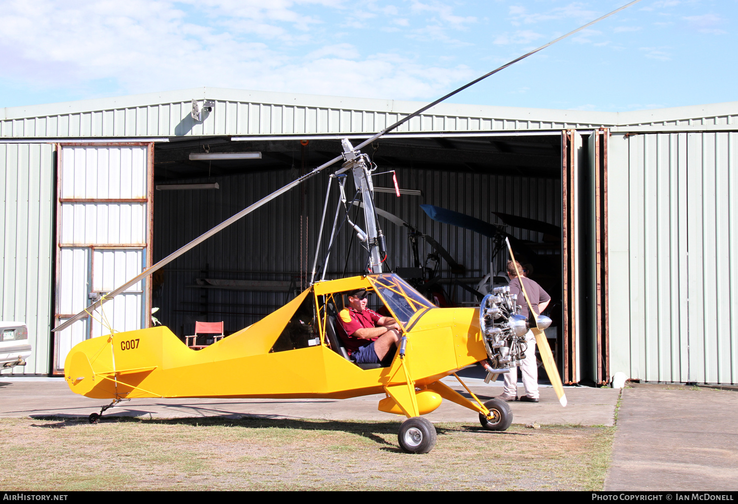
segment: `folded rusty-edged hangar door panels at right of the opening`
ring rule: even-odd
[[[610,379],[607,128],[562,133],[562,378]]]

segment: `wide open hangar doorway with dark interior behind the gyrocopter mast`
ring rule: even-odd
[[[508,253],[503,248],[492,256],[494,238],[432,220],[421,205],[455,211],[488,223],[500,236],[509,234],[518,244],[514,247],[518,259],[528,265],[531,279],[551,294],[548,315],[554,324],[547,335],[554,343],[565,381],[570,383],[600,382],[607,376],[592,351],[597,347],[596,338],[580,330],[580,319],[590,323],[596,318],[587,315],[593,299],[591,289],[576,288],[594,278],[588,259],[579,264],[580,251],[591,248],[584,242],[589,244],[593,238],[590,224],[595,222],[594,214],[582,219],[583,212],[589,215],[594,210],[591,170],[583,168],[591,164],[588,153],[595,152],[588,144],[595,136],[588,133],[399,134],[388,135],[363,150],[378,167],[375,186],[387,189],[376,192],[376,205],[412,226],[379,217],[387,237],[387,270],[398,270],[416,283],[430,279],[450,305],[474,306],[479,302],[475,291],[480,281],[488,273],[500,276]],[[573,141],[567,140],[567,134]],[[217,184],[218,189],[155,191],[154,261],[339,155],[341,138],[232,141],[228,137],[188,137],[156,144],[155,185],[160,189],[175,184]],[[195,153],[244,152],[261,153],[261,158],[190,159]],[[193,334],[195,321],[224,321],[225,332],[230,334],[308,287],[325,189],[336,169],[325,169],[165,266],[153,279],[153,306],[161,308],[157,318],[180,337]],[[401,197],[394,194],[392,171],[400,189],[409,190]],[[562,179],[562,173],[571,180]],[[353,182],[346,187],[351,200]],[[317,262],[319,277],[326,235],[338,203],[334,184]],[[361,225],[358,208],[351,210],[350,219]],[[438,242],[455,265],[419,236],[422,234]],[[326,279],[365,271],[366,253],[354,235],[348,225],[340,229],[325,266]],[[567,259],[568,267],[578,275],[566,276]],[[438,269],[434,273],[435,262]],[[428,268],[422,280],[413,278],[419,276],[418,266]],[[494,281],[503,282],[499,278]],[[571,301],[572,295],[576,303]]]

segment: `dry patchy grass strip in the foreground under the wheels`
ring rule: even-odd
[[[601,490],[614,427],[435,424],[427,455],[399,422],[0,419],[11,490]]]

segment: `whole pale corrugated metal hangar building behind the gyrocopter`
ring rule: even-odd
[[[226,334],[309,279],[331,169],[249,214],[106,304],[51,329],[213,225],[422,104],[194,88],[0,110],[0,318],[34,354],[15,374],[62,374],[69,349],[156,317]],[[200,115],[193,113],[198,109]],[[405,192],[376,203],[438,241],[444,293],[472,292],[506,259],[494,240],[435,222],[421,204],[499,225],[554,301],[565,383],[734,384],[738,374],[738,102],[605,113],[441,104],[366,147]],[[261,153],[193,161],[193,153]],[[376,186],[393,186],[392,173]],[[218,189],[174,189],[204,184]],[[157,190],[158,189],[158,190]],[[389,189],[387,189],[389,190]],[[337,195],[331,195],[331,206]],[[382,222],[394,269],[408,228]],[[344,232],[327,278],[359,274]],[[352,248],[353,247],[353,248]],[[425,264],[432,253],[418,240]],[[7,373],[7,371],[5,371]]]

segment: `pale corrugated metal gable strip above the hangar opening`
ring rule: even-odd
[[[202,105],[202,102],[200,102]],[[191,102],[69,113],[0,121],[4,137],[111,137],[373,133],[397,122],[400,113],[216,100],[202,122]],[[409,113],[409,112],[408,112]],[[407,115],[407,114],[406,114]],[[560,130],[599,127],[540,120],[421,115],[397,132]]]

